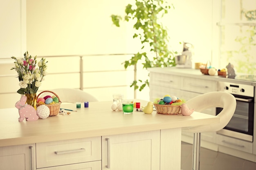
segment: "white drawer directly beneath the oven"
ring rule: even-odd
[[[224,135],[216,135],[216,142],[219,145],[233,148],[236,150],[242,150],[243,152],[252,153],[252,142],[227,137]]]

